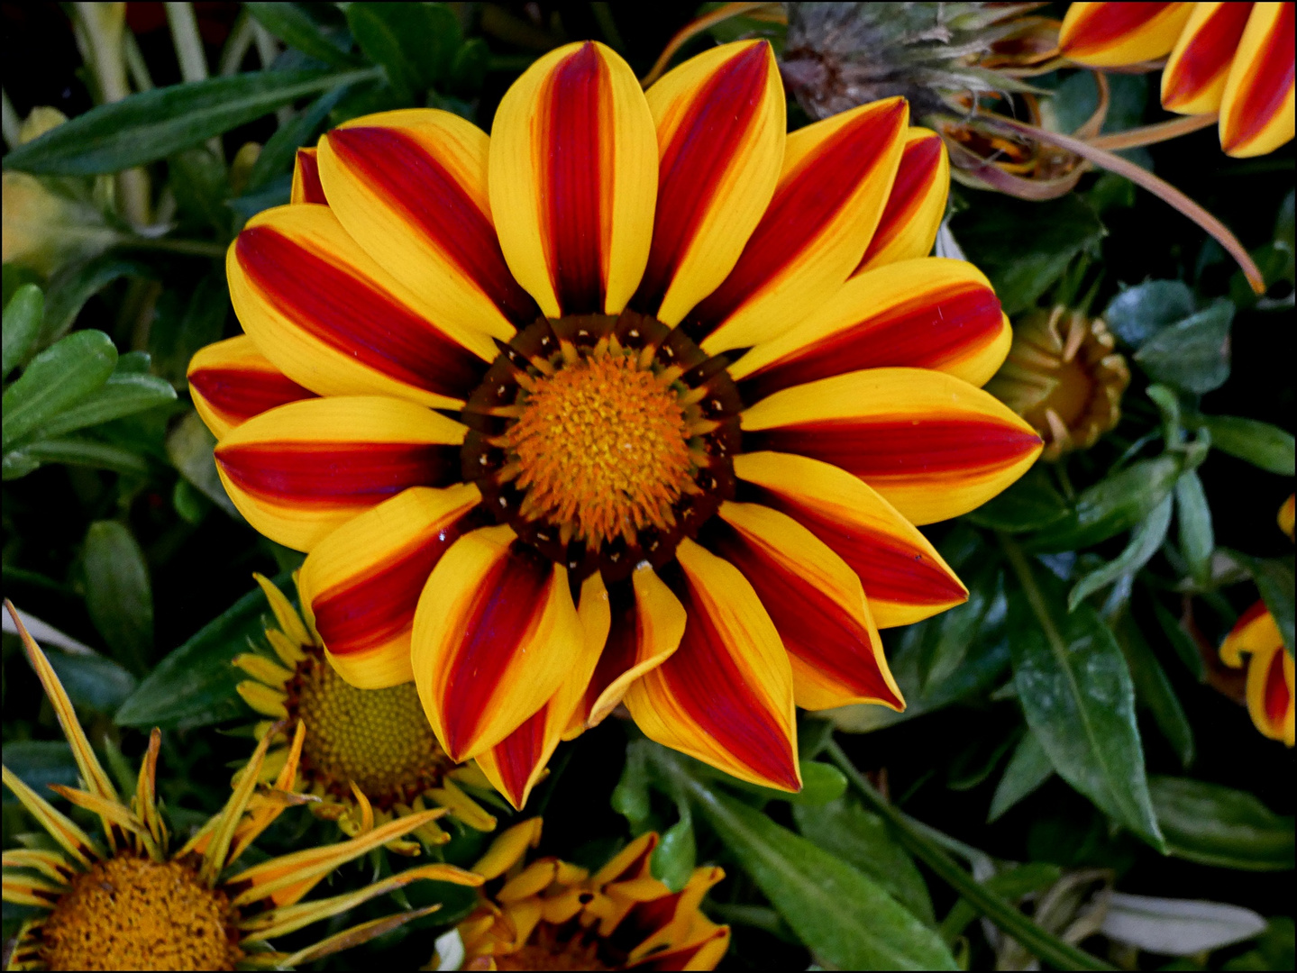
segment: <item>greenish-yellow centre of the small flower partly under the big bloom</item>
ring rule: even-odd
[[[289,705],[296,702],[296,715],[306,723],[302,767],[309,776],[337,797],[350,797],[354,780],[381,808],[440,785],[451,763],[414,683],[357,689],[314,654],[297,672]]]

